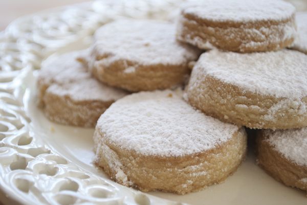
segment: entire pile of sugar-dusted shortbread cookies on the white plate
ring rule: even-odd
[[[90,49],[43,64],[40,106],[52,121],[77,126],[93,127],[102,114],[95,163],[122,185],[185,194],[220,183],[245,159],[244,126],[307,125],[307,56],[284,49],[294,41],[294,12],[279,0],[207,0],[184,5],[177,29],[108,23]],[[307,137],[288,132],[297,134],[259,132],[259,163],[281,178],[266,166],[276,165],[274,152],[283,160],[274,163],[298,167],[291,182],[301,184],[288,185],[306,189]]]

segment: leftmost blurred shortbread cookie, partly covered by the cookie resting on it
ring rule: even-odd
[[[76,61],[82,52],[47,60],[38,76],[39,104],[54,122],[94,127],[100,115],[125,91],[101,84]]]

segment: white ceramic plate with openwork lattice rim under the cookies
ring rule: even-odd
[[[123,187],[93,166],[93,129],[52,123],[36,107],[34,69],[43,59],[88,45],[91,33],[114,18],[169,19],[181,2],[86,3],[21,18],[2,34],[0,199],[4,203],[307,204],[304,192],[283,186],[257,167],[252,151],[226,182],[200,192],[144,194]]]

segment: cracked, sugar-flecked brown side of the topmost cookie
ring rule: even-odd
[[[294,18],[293,18],[294,19]],[[191,25],[197,27],[205,27],[206,31],[204,33],[198,33],[196,36],[193,35],[193,31],[190,31],[190,34],[185,34],[187,27],[183,26],[186,22],[189,22]],[[177,39],[182,42],[188,42],[191,45],[195,45],[202,49],[213,49],[220,47],[221,49],[233,49],[225,48],[225,44],[218,45],[221,39],[218,39],[218,32],[224,32],[223,39],[227,42],[237,42],[237,51],[246,53],[246,50],[249,52],[259,51],[259,47],[268,48],[275,46],[274,50],[281,49],[281,42],[293,41],[296,36],[296,27],[294,20],[289,20],[287,22],[275,23],[275,24],[264,24],[262,27],[257,28],[247,24],[242,23],[239,27],[237,25],[231,27],[229,26],[226,29],[221,29],[218,26],[210,27],[209,24],[196,22],[194,20],[188,19],[184,16],[181,16],[177,26]],[[208,35],[208,38],[204,38],[203,34]],[[245,35],[246,39],[242,38],[242,34]],[[211,39],[211,40],[210,40]],[[262,48],[263,49],[263,48]],[[272,49],[273,50],[273,49]],[[262,52],[265,50],[261,50]]]

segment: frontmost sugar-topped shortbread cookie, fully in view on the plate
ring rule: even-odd
[[[245,130],[194,110],[181,95],[141,92],[115,102],[97,122],[96,164],[142,191],[185,194],[224,181],[245,159]]]

